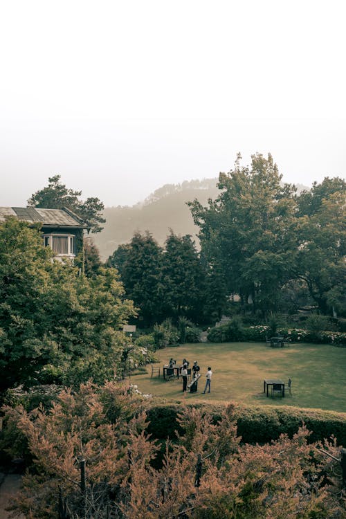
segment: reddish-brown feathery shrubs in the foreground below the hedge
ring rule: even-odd
[[[338,463],[307,444],[305,428],[292,439],[242,445],[233,406],[217,424],[203,410],[182,408],[184,434],[166,442],[154,468],[158,447],[145,434],[144,406],[114,383],[88,383],[62,392],[48,411],[7,408],[6,428],[17,426],[33,457],[15,509],[28,519],[56,518],[58,487],[71,502],[80,495],[78,462],[85,459],[89,491],[109,484],[114,518],[343,517]],[[334,442],[322,448],[340,457]]]

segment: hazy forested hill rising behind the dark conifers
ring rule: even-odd
[[[149,230],[158,244],[163,244],[170,229],[177,235],[196,235],[190,209],[186,202],[197,198],[206,204],[208,198],[219,194],[217,179],[184,181],[181,184],[166,184],[135,206],[105,208],[106,219],[102,233],[93,235],[102,260],[107,260],[120,244],[131,240],[138,230]]]

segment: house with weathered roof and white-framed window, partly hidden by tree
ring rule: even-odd
[[[68,208],[0,207],[0,221],[9,217],[41,224],[44,245],[50,246],[54,258],[60,261],[73,260],[82,251],[84,229],[89,231],[89,226]]]

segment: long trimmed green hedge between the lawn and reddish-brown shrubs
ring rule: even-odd
[[[230,403],[237,421],[238,435],[244,443],[268,443],[286,433],[292,437],[298,428],[304,424],[311,432],[309,441],[322,441],[325,438],[336,437],[338,445],[346,446],[346,413],[334,411],[300,409],[292,407],[244,406]],[[186,406],[186,408],[202,408],[206,414],[212,415],[214,421],[221,416],[224,406]],[[147,428],[156,439],[176,439],[176,431],[183,430],[176,421],[176,415],[181,412],[181,406],[153,406],[147,409],[150,421]]]

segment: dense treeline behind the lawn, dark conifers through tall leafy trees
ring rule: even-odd
[[[212,321],[234,294],[262,318],[304,304],[345,315],[345,181],[327,177],[297,194],[271,155],[257,154],[250,168],[238,156],[218,188],[207,206],[189,203],[201,251],[190,236],[171,231],[161,248],[147,232],[109,257],[143,324],[179,315]]]

